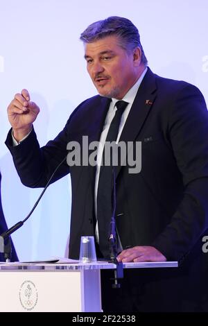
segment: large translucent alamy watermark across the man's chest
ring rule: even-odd
[[[101,150],[104,159],[97,161],[97,153]],[[128,166],[129,173],[141,171],[141,141],[100,141],[89,142],[88,136],[83,136],[82,144],[69,141],[67,144],[67,164],[69,166]]]

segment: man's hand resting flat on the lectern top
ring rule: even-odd
[[[166,257],[159,250],[151,246],[136,246],[123,250],[117,257],[123,263],[130,261],[166,261]]]

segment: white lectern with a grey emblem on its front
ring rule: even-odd
[[[107,262],[0,264],[0,311],[102,311],[101,269]],[[123,268],[177,267],[177,261],[126,263]]]

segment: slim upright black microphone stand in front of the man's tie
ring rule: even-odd
[[[116,176],[114,167],[112,168],[112,179],[113,179],[113,212],[110,221],[110,237],[109,237],[109,246],[110,246],[110,262],[116,265],[114,270],[114,283],[112,284],[113,289],[119,289],[121,284],[118,282],[118,279],[123,278],[123,263],[122,261],[117,261],[116,257],[118,256],[117,251],[117,239],[116,239]]]

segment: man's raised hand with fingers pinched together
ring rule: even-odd
[[[40,108],[31,102],[28,91],[22,89],[21,94],[15,95],[7,111],[13,135],[17,141],[20,141],[31,131]]]

